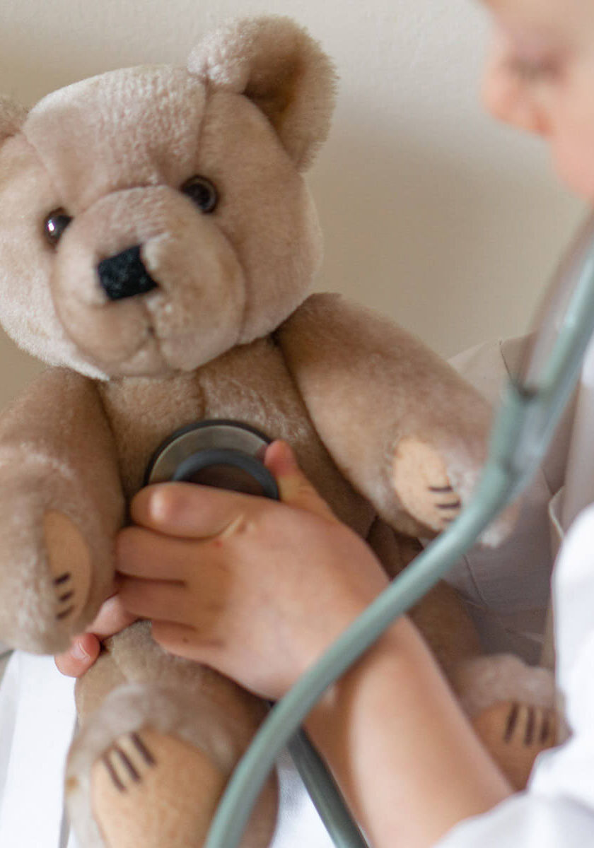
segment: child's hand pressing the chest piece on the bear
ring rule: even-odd
[[[122,609],[126,623],[153,619],[154,639],[167,650],[277,699],[387,578],[308,483],[288,445],[272,444],[266,466],[282,504],[188,483],[139,492],[136,526],[117,541],[120,594],[112,603],[115,623]],[[92,665],[95,645],[83,646],[89,658],[70,651],[60,670],[79,675]]]

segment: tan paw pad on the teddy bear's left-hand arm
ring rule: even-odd
[[[91,553],[78,527],[64,513],[49,510],[43,532],[55,594],[54,615],[64,626],[76,622],[91,589]]]

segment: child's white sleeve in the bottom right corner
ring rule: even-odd
[[[440,840],[439,848],[594,845],[593,550],[590,506],[570,528],[553,576],[557,676],[569,740],[538,758],[524,793],[458,824]]]

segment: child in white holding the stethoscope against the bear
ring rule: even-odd
[[[485,83],[488,108],[544,137],[564,181],[594,199],[594,4],[490,0],[490,6],[496,44]],[[594,501],[585,453],[592,452],[593,376],[591,349],[562,528]],[[328,513],[286,446],[274,444],[266,462],[279,479],[283,505],[177,485],[138,494],[137,527],[123,531],[118,544],[123,577],[112,612],[115,606],[116,619],[122,611],[153,618],[165,648],[278,698],[385,578],[365,545]],[[558,681],[573,736],[541,757],[526,793],[507,797],[509,787],[406,618],[312,712],[311,736],[375,848],[438,841],[442,848],[594,844],[593,542],[590,507],[563,544],[554,584]],[[172,570],[180,583],[164,586]],[[211,601],[221,597],[225,605],[213,611]],[[62,657],[64,671],[79,673],[96,656],[92,635],[78,647],[87,659]]]

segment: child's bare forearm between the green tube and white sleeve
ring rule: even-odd
[[[428,848],[511,794],[406,618],[305,726],[376,848]]]

